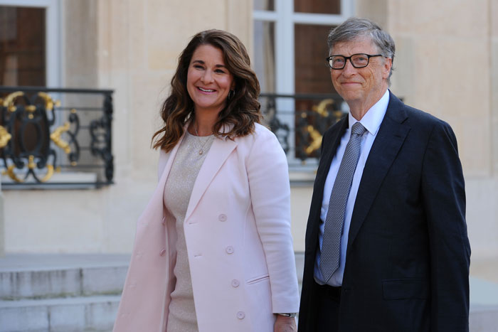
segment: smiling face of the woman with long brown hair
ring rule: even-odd
[[[223,52],[213,45],[199,45],[187,73],[187,91],[196,112],[219,113],[233,90],[233,75],[225,67]]]

